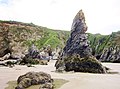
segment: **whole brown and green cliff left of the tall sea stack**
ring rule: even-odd
[[[68,32],[14,21],[0,21],[0,56],[11,53],[12,57],[25,54],[33,43],[38,49],[51,45],[63,47]]]

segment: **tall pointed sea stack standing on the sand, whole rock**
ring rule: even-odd
[[[56,70],[106,73],[102,64],[92,56],[92,50],[87,39],[85,16],[80,10],[73,19],[71,34],[63,49],[61,57],[56,62]]]

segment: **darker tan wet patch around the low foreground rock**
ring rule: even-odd
[[[58,89],[60,88],[63,84],[67,83],[67,80],[64,79],[54,79],[54,89]],[[9,81],[8,83],[8,87],[6,87],[5,89],[15,89],[15,87],[17,86],[17,82],[16,81]],[[25,89],[39,89],[40,85],[33,85],[30,86],[29,88],[25,88]]]

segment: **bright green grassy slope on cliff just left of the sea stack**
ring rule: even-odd
[[[26,40],[23,42],[23,45],[30,47],[34,43],[38,49],[41,49],[42,47],[47,45],[50,45],[51,48],[56,48],[57,46],[63,48],[69,36],[69,32],[54,31],[48,28],[45,28],[42,34],[43,35],[40,39]]]

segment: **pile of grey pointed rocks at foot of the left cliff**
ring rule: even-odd
[[[43,50],[44,51],[44,50]],[[25,57],[20,61],[20,64],[41,64],[47,65],[50,57],[47,52],[40,52],[37,47],[33,44],[29,49]]]

